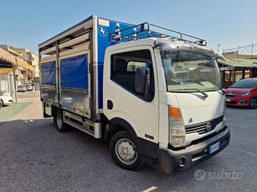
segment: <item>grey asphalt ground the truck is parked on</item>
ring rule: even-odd
[[[0,126],[0,191],[256,191],[257,110],[228,108],[231,144],[187,171],[156,173],[120,169],[108,146],[72,129],[59,133],[42,119],[39,93]],[[201,181],[200,181],[201,180]]]

